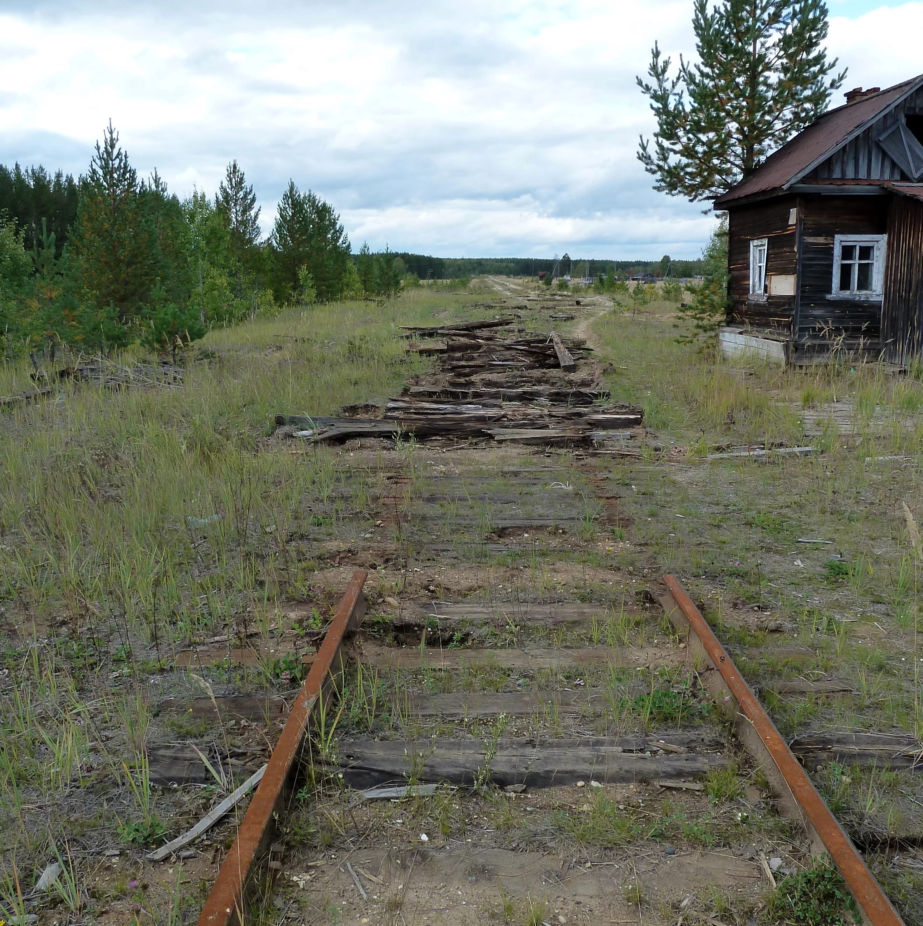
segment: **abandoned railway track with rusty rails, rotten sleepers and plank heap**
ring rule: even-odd
[[[592,359],[491,331],[385,417],[281,419],[350,442],[343,597],[200,926],[721,922],[817,851],[899,923],[679,582],[614,568],[630,488],[595,451],[642,427],[564,418]]]

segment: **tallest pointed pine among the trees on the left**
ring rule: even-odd
[[[112,123],[96,143],[71,239],[84,298],[103,327],[137,319],[154,283],[152,245],[138,195],[138,177]],[[89,330],[98,326],[88,319]],[[126,336],[127,332],[126,332]],[[111,338],[110,338],[111,343]]]

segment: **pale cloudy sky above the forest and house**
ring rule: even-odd
[[[828,0],[849,87],[923,71],[923,0]],[[112,119],[140,173],[212,194],[236,157],[268,232],[289,178],[357,247],[696,257],[713,219],[635,158],[650,47],[692,0],[0,0],[0,163],[75,174]],[[834,101],[834,105],[840,101]]]

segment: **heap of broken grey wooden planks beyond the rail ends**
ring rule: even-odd
[[[410,329],[430,338],[410,349],[440,355],[440,368],[433,382],[389,399],[380,418],[278,415],[276,424],[312,443],[412,435],[540,445],[592,444],[642,424],[640,408],[607,403],[594,382],[571,375],[575,355],[590,350],[584,342],[499,332],[513,320]]]

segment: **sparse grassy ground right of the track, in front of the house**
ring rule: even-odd
[[[639,544],[622,552],[620,565],[683,576],[752,683],[832,677],[851,684],[851,694],[764,688],[787,737],[844,730],[919,737],[917,370],[895,377],[850,357],[804,370],[730,364],[678,343],[669,336],[675,323],[662,301],[633,319],[606,313],[594,323],[613,363],[613,397],[642,405],[649,440],[664,448],[661,459],[651,453],[620,472]],[[834,419],[843,407],[848,418]],[[704,460],[773,444],[813,444],[819,452],[769,465]],[[809,771],[856,838],[917,838],[913,772],[835,763]],[[893,885],[906,919],[919,921],[916,870],[892,869],[883,850],[872,864]]]

